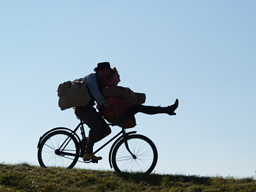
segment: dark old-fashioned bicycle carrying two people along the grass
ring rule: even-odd
[[[80,120],[73,131],[65,127],[56,127],[45,132],[37,145],[40,166],[73,168],[79,161],[79,157],[83,158],[84,156],[87,141],[84,124]],[[79,127],[81,138],[76,133]],[[117,138],[109,150],[110,167],[114,168],[116,172],[151,173],[157,163],[157,148],[149,138],[136,134],[136,132],[126,132],[122,128],[122,131],[95,150],[93,154]],[[122,136],[120,136],[121,134]],[[118,136],[120,137],[118,138]],[[97,160],[79,162],[98,163]]]

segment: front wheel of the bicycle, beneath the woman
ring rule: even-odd
[[[140,134],[127,136],[127,143],[136,159],[131,156],[125,147],[124,139],[120,140],[112,153],[112,164],[115,171],[151,173],[158,158],[156,145],[149,138]]]

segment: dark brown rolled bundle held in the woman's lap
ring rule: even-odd
[[[111,86],[102,89],[103,97],[117,97],[120,99],[131,99],[131,93],[123,88],[122,86]],[[138,104],[145,103],[146,95],[145,93],[135,93],[134,92],[134,100]]]

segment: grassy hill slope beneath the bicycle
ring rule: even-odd
[[[256,191],[256,180],[0,164],[0,191]]]

